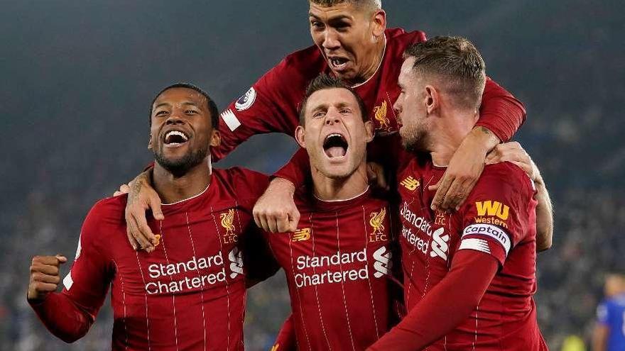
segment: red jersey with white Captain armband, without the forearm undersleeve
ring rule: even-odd
[[[404,299],[410,311],[450,270],[459,250],[492,255],[499,272],[469,318],[426,350],[546,350],[536,321],[536,200],[509,162],[487,165],[459,211],[430,204],[445,167],[413,158],[399,181]],[[462,289],[462,286],[458,286]]]

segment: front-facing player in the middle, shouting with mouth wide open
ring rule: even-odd
[[[374,131],[354,90],[322,74],[301,106],[295,139],[308,153],[312,184],[295,192],[298,229],[266,235],[293,311],[273,350],[364,350],[396,321],[396,208],[369,190],[366,145]]]

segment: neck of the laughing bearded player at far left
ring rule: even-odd
[[[202,191],[205,191],[210,184],[210,167],[205,162],[200,162],[178,177],[170,173],[156,162],[154,164],[154,189],[161,197],[163,204],[173,204],[178,201],[190,199]]]

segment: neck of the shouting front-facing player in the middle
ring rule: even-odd
[[[326,177],[312,165],[310,170],[312,171],[313,194],[322,201],[353,199],[364,193],[369,186],[366,177],[366,163],[364,162],[354,173],[340,179]]]

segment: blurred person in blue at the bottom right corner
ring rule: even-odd
[[[597,325],[592,333],[592,351],[625,349],[625,275],[608,274],[605,299],[597,306]]]

